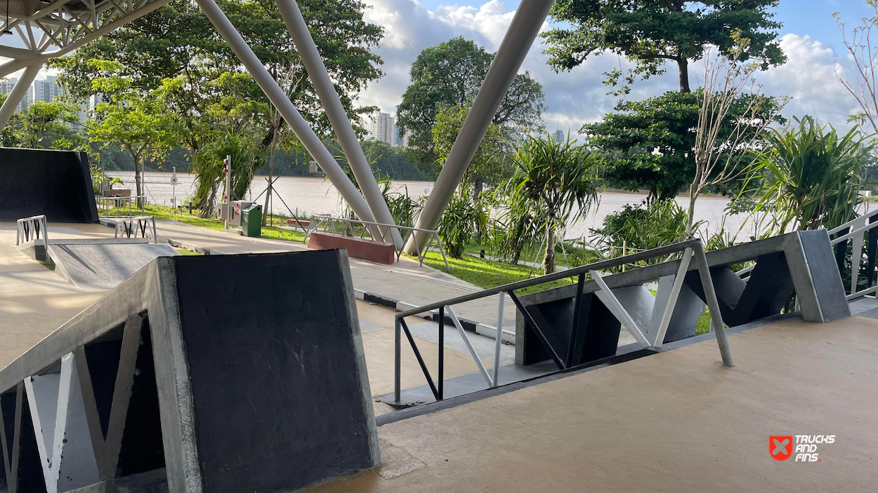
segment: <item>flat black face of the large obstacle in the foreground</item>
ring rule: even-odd
[[[174,263],[204,490],[289,491],[376,465],[347,256]]]

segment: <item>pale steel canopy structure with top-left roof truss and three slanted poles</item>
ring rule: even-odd
[[[18,102],[25,96],[43,64],[49,58],[62,56],[79,46],[112,32],[122,25],[155,11],[170,0],[0,0],[0,57],[10,58],[0,64],[0,78],[24,69],[15,87],[0,106],[0,130],[9,122]],[[377,223],[373,226],[373,238],[392,241],[402,247],[403,239],[395,226],[390,209],[378,189],[363,149],[356,139],[347,113],[331,82],[305,19],[295,0],[277,0],[284,24],[299,50],[314,89],[320,96],[320,104],[327,112],[335,135],[342,145],[345,157],[354,172],[359,190],[350,182],[335,158],[328,152],[305,118],[284,94],[256,58],[241,34],[235,30],[214,0],[195,0],[227,43],[233,48],[254,80],[268,96],[271,104],[284,116],[309,154],[320,164],[339,193],[364,221]],[[525,55],[533,44],[536,34],[545,21],[554,0],[522,0],[506,36],[500,43],[497,56],[488,70],[485,82],[479,89],[464,125],[457,136],[448,161],[436,180],[418,218],[417,227],[433,230],[449,204],[457,185],[464,177],[472,156],[485,136],[494,113],[500,107],[515,75],[522,66]],[[361,195],[362,190],[362,195]],[[414,235],[428,233],[415,232]],[[426,245],[426,238],[407,239],[407,251]],[[419,241],[420,240],[420,241]]]

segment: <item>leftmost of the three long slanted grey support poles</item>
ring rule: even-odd
[[[205,12],[205,16],[210,19],[212,25],[219,31],[219,34],[232,47],[234,54],[238,56],[238,59],[241,60],[241,63],[247,68],[247,71],[253,76],[256,83],[259,84],[259,87],[263,89],[265,96],[268,96],[271,104],[274,104],[277,111],[284,116],[286,123],[290,125],[292,131],[299,137],[308,153],[320,164],[320,168],[327,174],[329,181],[332,182],[335,189],[338,189],[344,200],[350,204],[350,208],[354,210],[356,216],[365,221],[375,222],[375,218],[369,209],[369,204],[366,204],[363,196],[360,195],[354,184],[350,182],[348,176],[344,174],[342,167],[338,165],[338,162],[335,161],[335,158],[329,153],[329,150],[323,145],[323,142],[320,141],[320,138],[317,137],[317,134],[314,133],[305,118],[299,113],[299,110],[292,104],[290,98],[284,94],[284,90],[280,89],[277,81],[271,77],[269,71],[265,69],[263,62],[256,57],[253,50],[248,46],[247,41],[241,37],[241,33],[228,20],[226,14],[219,9],[219,6],[213,0],[196,0],[196,2],[201,7],[201,11]],[[373,233],[376,237],[381,235],[377,227]]]

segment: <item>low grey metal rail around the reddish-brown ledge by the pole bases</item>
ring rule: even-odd
[[[443,262],[445,262],[445,270],[448,272],[451,271],[451,268],[448,264],[448,258],[445,256],[445,249],[442,247],[442,241],[439,239],[439,235],[435,232],[435,230],[421,229],[411,226],[388,225],[385,223],[376,223],[373,221],[363,221],[361,219],[334,218],[327,214],[316,214],[314,215],[313,219],[314,222],[312,227],[306,230],[305,239],[302,240],[305,243],[307,243],[308,238],[311,236],[311,233],[318,231],[321,228],[323,232],[332,232],[333,234],[343,234],[347,236],[357,236],[356,229],[359,229],[359,238],[361,239],[364,239],[366,237],[366,234],[368,233],[369,239],[392,243],[393,240],[390,236],[391,229],[395,229],[399,231],[399,235],[402,236],[402,245],[405,245],[409,237],[414,239],[414,245],[418,248],[418,262],[421,265],[424,265],[424,256],[427,255],[428,250],[433,246],[435,242],[436,247],[439,248],[439,253],[442,254],[442,260]],[[360,227],[356,228],[356,225],[360,225]],[[427,233],[429,239],[426,246],[421,248],[421,246],[418,245],[418,237],[414,234],[414,232]],[[402,249],[403,247],[401,246],[396,247],[397,261],[399,261],[399,256],[402,254]]]

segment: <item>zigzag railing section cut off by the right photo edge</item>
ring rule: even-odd
[[[878,209],[846,222],[828,231],[830,244],[835,248],[835,260],[838,264],[838,272],[850,274],[850,285],[846,286],[847,299],[873,295],[878,291],[875,281],[875,254],[878,251]],[[868,239],[866,234],[868,233]],[[847,245],[851,242],[851,265],[847,265]],[[865,259],[863,258],[863,243],[866,243]],[[863,261],[865,260],[865,266]],[[863,273],[865,267],[865,273]],[[860,278],[866,276],[866,288],[858,290]],[[849,289],[848,289],[849,288]]]

